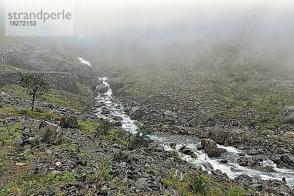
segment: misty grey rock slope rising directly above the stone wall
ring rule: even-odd
[[[69,72],[83,78],[94,75],[91,67],[81,64],[77,58],[64,55],[46,40],[26,39],[17,46],[0,44],[0,63],[25,70]]]

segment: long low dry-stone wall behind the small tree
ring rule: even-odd
[[[50,87],[56,90],[64,90],[78,94],[76,78],[71,73],[66,72],[40,72],[22,71],[26,73],[41,73],[49,82]],[[0,87],[8,84],[19,84],[20,75],[16,71],[0,71]]]

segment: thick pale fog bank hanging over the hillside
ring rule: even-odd
[[[57,42],[94,64],[181,66],[225,46],[288,60],[294,51],[292,0],[73,2],[74,37]]]

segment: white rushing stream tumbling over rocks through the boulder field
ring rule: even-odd
[[[103,80],[103,84],[109,87],[106,77],[99,78]],[[123,129],[131,133],[136,133],[138,126],[136,121],[131,120],[129,116],[125,113],[125,109],[119,101],[113,101],[112,90],[109,90],[104,95],[98,95],[96,98],[99,107],[94,111],[96,115],[100,118],[111,118],[114,116],[122,117]],[[101,106],[105,109],[111,111],[110,114],[103,114]],[[196,153],[197,158],[194,159],[189,155],[182,154],[182,159],[187,162],[201,167],[204,170],[210,172],[211,170],[219,169],[222,172],[225,172],[230,178],[235,178],[240,174],[246,174],[252,177],[255,180],[267,180],[267,179],[278,179],[281,180],[282,177],[285,177],[289,187],[294,188],[294,170],[290,169],[279,169],[276,168],[276,165],[269,160],[261,162],[261,166],[272,166],[276,172],[262,172],[254,170],[252,168],[243,167],[236,163],[237,158],[239,157],[238,153],[242,152],[234,147],[224,147],[227,151],[223,153],[218,158],[210,158],[203,152],[203,150],[197,150],[196,147],[200,144],[200,140],[187,135],[172,135],[166,133],[157,133],[156,135],[151,135],[150,138],[155,142],[162,145],[165,150],[173,150],[170,146],[171,143],[176,144],[175,150],[179,150],[180,147],[186,145],[191,148],[194,153]],[[249,157],[249,156],[248,156]],[[227,163],[221,163],[221,160],[228,160]]]

